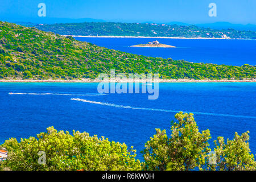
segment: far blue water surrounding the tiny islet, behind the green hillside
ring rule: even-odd
[[[155,41],[153,38],[80,38],[119,51],[151,57],[171,57],[194,63],[214,63],[225,65],[256,65],[256,40],[219,40],[219,39],[157,39],[159,43],[176,48],[130,47]]]

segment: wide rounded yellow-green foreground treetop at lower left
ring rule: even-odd
[[[3,144],[9,151],[3,166],[11,170],[140,170],[141,163],[135,160],[133,147],[110,142],[88,133],[55,130],[48,127],[47,133],[37,138],[9,139]],[[46,164],[38,163],[39,151],[46,154]]]

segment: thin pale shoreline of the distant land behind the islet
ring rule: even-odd
[[[254,40],[254,39],[227,39],[227,38],[180,38],[169,36],[86,36],[86,35],[62,35],[78,38],[154,38],[154,39],[213,39],[213,40]]]

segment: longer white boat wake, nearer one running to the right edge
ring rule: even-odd
[[[117,105],[117,104],[110,104],[108,102],[97,102],[97,101],[89,101],[84,100],[81,98],[71,98],[72,101],[80,101],[80,102],[88,102],[90,104],[98,104],[102,106],[111,106],[111,107],[118,107],[124,109],[138,109],[138,110],[151,110],[151,111],[162,111],[168,113],[179,113],[182,110],[169,110],[169,109],[153,109],[153,108],[146,108],[146,107],[131,107],[125,105]],[[184,113],[193,113],[193,114],[201,114],[201,115],[216,115],[216,116],[224,116],[224,117],[236,117],[236,118],[253,118],[256,119],[254,116],[247,116],[247,115],[233,115],[233,114],[218,114],[218,113],[202,113],[197,111],[183,111]]]

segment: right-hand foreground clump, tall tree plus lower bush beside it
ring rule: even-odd
[[[156,134],[145,144],[144,169],[147,170],[256,170],[254,155],[250,154],[249,131],[225,143],[218,137],[215,156],[210,152],[210,131],[199,132],[192,113],[177,113],[178,122],[172,122],[171,137],[166,130],[156,129]]]

